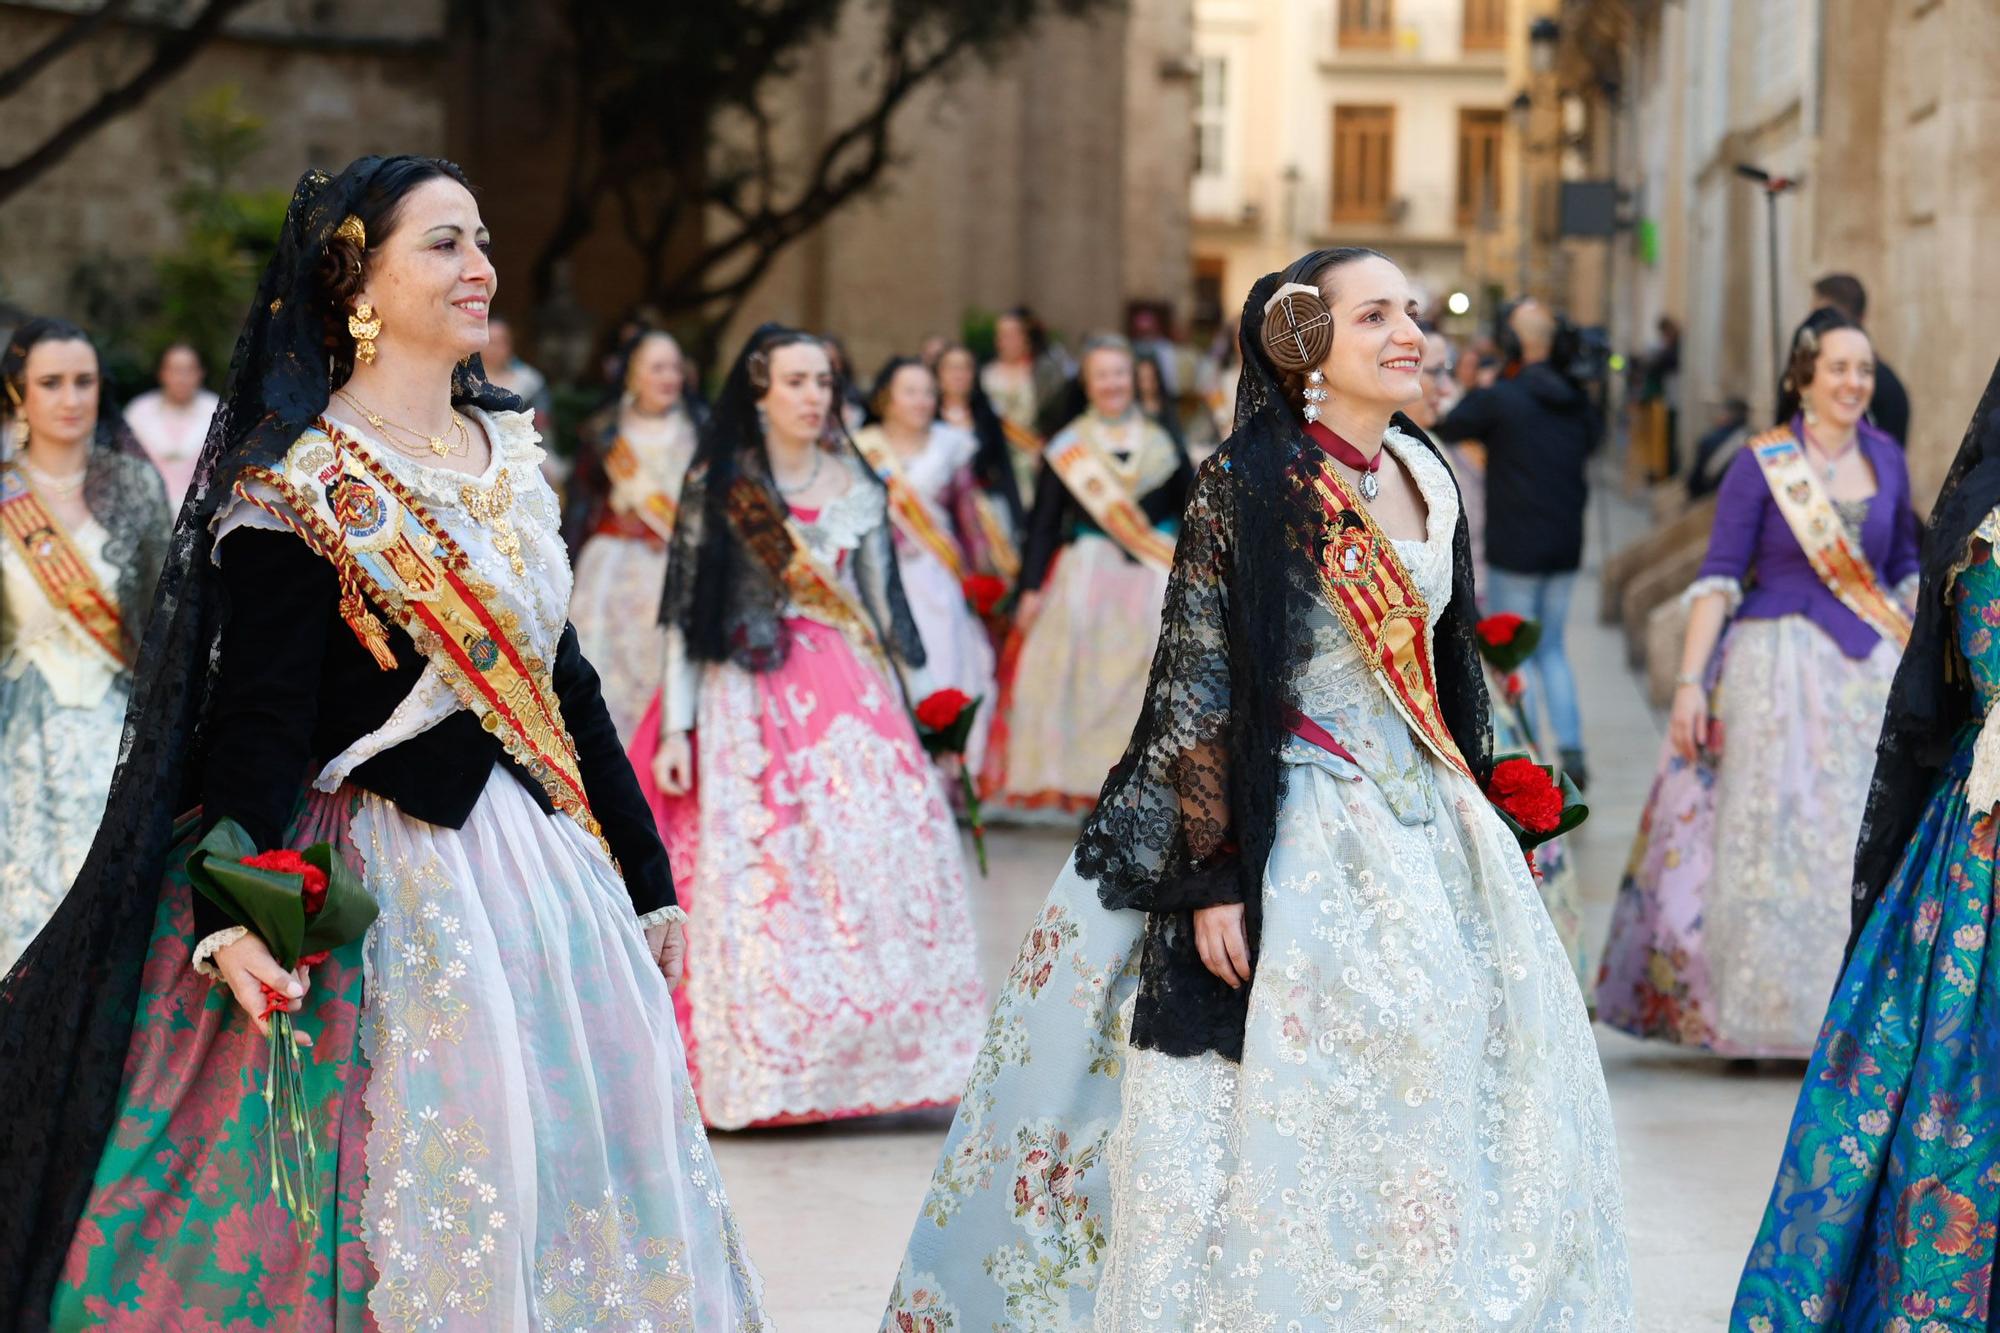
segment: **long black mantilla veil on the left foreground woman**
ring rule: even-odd
[[[116,1113],[176,819],[194,809],[202,719],[226,608],[210,562],[210,518],[250,464],[268,464],[326,408],[332,298],[326,242],[384,164],[308,172],[230,356],[194,484],[174,524],[134,671],[104,823],[54,919],[0,981],[0,1325],[38,1329]],[[474,356],[460,406],[514,410]]]

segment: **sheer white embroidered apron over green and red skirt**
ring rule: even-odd
[[[618,875],[494,771],[464,829],[364,797],[370,1309],[424,1329],[762,1329]]]

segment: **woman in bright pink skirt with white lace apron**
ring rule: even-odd
[[[670,845],[696,849],[680,1021],[726,1129],[946,1105],[986,1009],[958,827],[898,679],[926,658],[890,496],[832,412],[826,346],[758,328],[688,470],[632,749]]]

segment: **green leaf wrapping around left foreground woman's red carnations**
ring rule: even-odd
[[[302,857],[326,873],[326,903],[306,919],[304,881],[284,871],[244,865],[258,847],[234,819],[224,819],[188,855],[188,883],[228,913],[230,921],[256,931],[278,967],[290,971],[322,949],[338,949],[376,919],[376,901],[362,887],[332,845],[308,847]]]

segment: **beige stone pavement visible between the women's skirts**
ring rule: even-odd
[[[1636,532],[1634,510],[1592,510],[1592,564],[1610,532]],[[1570,614],[1592,789],[1590,823],[1572,839],[1598,953],[1632,829],[1652,781],[1662,721],[1624,666],[1618,634],[1596,622],[1586,568]],[[972,879],[980,955],[990,983],[1070,851],[1056,829],[996,829],[992,877]],[[1744,1253],[1792,1113],[1800,1067],[1728,1073],[1598,1029],[1624,1159],[1638,1327],[1722,1329]],[[764,1271],[784,1333],[868,1333],[896,1277],[904,1241],[950,1117],[906,1115],[862,1125],[716,1135],[722,1177]],[[984,1333],[978,1331],[978,1333]]]

